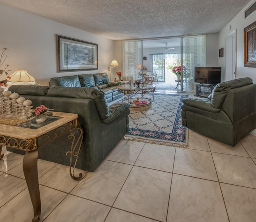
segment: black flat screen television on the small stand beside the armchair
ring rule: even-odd
[[[197,83],[216,85],[221,82],[221,67],[195,67]]]

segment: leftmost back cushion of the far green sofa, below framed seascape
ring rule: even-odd
[[[51,78],[50,86],[81,87],[81,84],[78,75],[75,75]]]

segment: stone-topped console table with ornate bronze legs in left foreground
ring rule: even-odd
[[[71,172],[72,158],[77,160],[81,144],[83,130],[77,123],[78,114],[53,112],[53,116],[47,117],[45,122],[36,123],[35,120],[13,119],[8,123],[0,124],[0,160],[3,158],[2,147],[10,146],[16,149],[26,150],[23,158],[23,172],[28,186],[28,192],[34,209],[32,222],[39,221],[41,215],[41,200],[38,183],[38,148],[47,142],[54,140],[66,132],[70,132],[67,139],[72,140],[72,147],[66,155],[70,155],[70,176],[74,180],[81,180],[82,174],[74,176]],[[18,124],[17,124],[18,123]],[[76,166],[76,160],[75,165]]]

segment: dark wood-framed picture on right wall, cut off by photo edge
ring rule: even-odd
[[[244,67],[256,67],[256,22],[244,28]]]

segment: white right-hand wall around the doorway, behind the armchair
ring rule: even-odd
[[[244,28],[256,21],[256,12],[244,19],[244,11],[251,6],[255,0],[251,0],[219,33],[219,49],[224,48],[225,37],[236,30],[236,78],[250,77],[256,83],[256,68],[244,67]],[[231,29],[229,30],[229,26]],[[225,70],[224,57],[219,58],[219,66]]]

